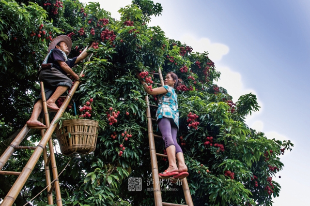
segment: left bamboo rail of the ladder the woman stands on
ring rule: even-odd
[[[148,96],[145,96],[145,101],[147,104],[149,104]],[[155,141],[154,141],[154,135],[153,135],[153,126],[152,126],[150,106],[146,108],[146,117],[148,120],[147,128],[148,128],[148,133],[149,133],[149,145],[150,145],[150,155],[151,155],[151,165],[152,165],[155,206],[162,206],[160,181],[159,181],[159,174],[158,174],[158,165],[157,165],[157,157],[156,157],[156,150],[155,150]]]

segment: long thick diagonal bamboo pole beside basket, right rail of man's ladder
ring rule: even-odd
[[[39,145],[33,151],[33,154],[31,155],[31,158],[29,159],[29,161],[27,162],[26,166],[22,170],[20,176],[16,179],[16,182],[12,186],[11,190],[7,193],[7,195],[3,199],[3,202],[1,204],[1,206],[12,206],[14,204],[14,201],[16,200],[17,195],[21,191],[22,187],[25,185],[28,177],[31,174],[31,171],[33,170],[33,168],[34,168],[34,166],[36,164],[36,162],[38,162],[44,147],[46,147],[47,142],[49,141],[52,133],[56,129],[55,121],[58,118],[62,117],[62,113],[64,112],[65,108],[69,104],[69,102],[71,100],[71,97],[74,95],[75,91],[77,90],[79,83],[80,83],[79,81],[76,81],[75,84],[73,85],[73,87],[71,88],[71,91],[70,91],[69,95],[67,96],[67,98],[62,103],[61,108],[58,110],[57,114],[55,115],[55,118],[51,122],[51,124],[48,127],[47,131],[45,132],[44,136],[42,137]],[[56,170],[57,170],[57,168],[56,168]],[[55,183],[56,182],[58,182],[58,181],[55,181]],[[62,201],[57,202],[57,206],[62,206]]]

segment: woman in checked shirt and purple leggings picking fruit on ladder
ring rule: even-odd
[[[183,179],[188,176],[188,173],[182,149],[176,140],[176,134],[179,130],[179,111],[178,99],[174,88],[180,84],[178,76],[173,72],[168,73],[164,81],[165,86],[153,88],[152,91],[147,87],[147,84],[143,81],[139,73],[137,73],[137,76],[146,93],[159,95],[156,119],[165,142],[169,161],[168,169],[163,173],[159,173],[159,176]],[[178,160],[178,166],[176,165],[175,158]]]

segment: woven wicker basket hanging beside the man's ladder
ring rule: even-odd
[[[94,151],[98,137],[98,125],[97,121],[90,119],[63,120],[62,127],[56,130],[62,154],[72,156]]]

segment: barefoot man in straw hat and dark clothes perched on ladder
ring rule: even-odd
[[[51,110],[59,110],[55,103],[56,100],[72,86],[72,81],[67,77],[67,74],[76,80],[79,79],[78,74],[73,72],[71,68],[88,56],[87,52],[82,52],[78,57],[68,59],[67,56],[70,54],[71,47],[71,39],[66,35],[53,39],[48,46],[48,55],[39,70],[38,77],[44,83],[47,108]],[[27,121],[28,126],[45,127],[43,123],[38,121],[42,106],[42,94],[40,93],[33,106],[31,118]]]

